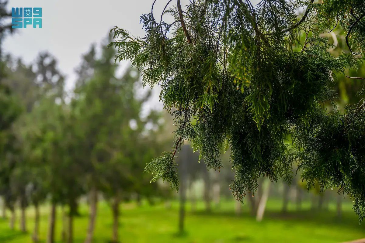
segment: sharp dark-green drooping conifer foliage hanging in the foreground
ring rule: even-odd
[[[160,0],[162,1],[162,0]],[[154,1],[154,3],[156,0]],[[153,3],[153,5],[154,5]],[[339,114],[331,90],[336,74],[358,68],[365,39],[362,0],[166,0],[161,17],[141,16],[146,35],[115,27],[115,60],[131,60],[144,85],[160,98],[177,129],[172,152],[146,166],[178,189],[176,153],[184,141],[219,169],[231,150],[238,200],[257,179],[291,181],[299,162],[308,190],[340,188],[365,216],[365,107],[362,99]],[[297,11],[305,9],[300,19]],[[173,21],[165,23],[164,15]],[[365,18],[364,18],[365,19]],[[323,33],[341,26],[349,51],[333,56]],[[300,36],[306,38],[300,42]],[[362,94],[364,95],[364,94]]]

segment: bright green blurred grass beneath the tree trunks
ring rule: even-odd
[[[309,203],[303,205],[303,211],[295,212],[294,205],[289,205],[289,212],[280,213],[281,202],[270,200],[262,222],[255,222],[249,216],[248,208],[243,208],[241,216],[234,213],[234,202],[223,202],[219,209],[205,213],[203,204],[199,203],[196,212],[189,210],[185,221],[186,233],[178,235],[178,203],[170,209],[164,204],[137,206],[135,203],[121,205],[120,240],[125,243],[138,242],[186,242],[186,243],[226,243],[226,242],[295,242],[295,243],[336,243],[365,237],[364,224],[359,226],[358,218],[345,204],[342,220],[335,217],[334,207],[330,211],[311,212]],[[41,208],[41,242],[45,242],[48,227],[47,206]],[[58,210],[59,211],[59,210]],[[88,223],[88,208],[82,205],[81,215],[74,222],[74,242],[83,242]],[[32,231],[32,208],[27,211],[28,231]],[[19,218],[19,213],[18,213]],[[111,213],[108,204],[101,202],[97,215],[95,243],[108,242],[111,236]],[[0,219],[0,242],[28,243],[30,234],[9,230],[8,220]],[[61,242],[61,219],[58,214],[57,242]]]

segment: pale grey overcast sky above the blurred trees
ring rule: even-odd
[[[156,16],[161,15],[166,2],[157,0]],[[5,39],[3,48],[5,52],[22,57],[26,63],[31,63],[40,51],[49,51],[57,58],[70,88],[81,55],[92,43],[100,44],[112,27],[125,28],[132,35],[143,35],[139,17],[151,11],[152,3],[153,0],[9,0],[9,9],[42,7],[42,28],[18,29],[16,34]]]

